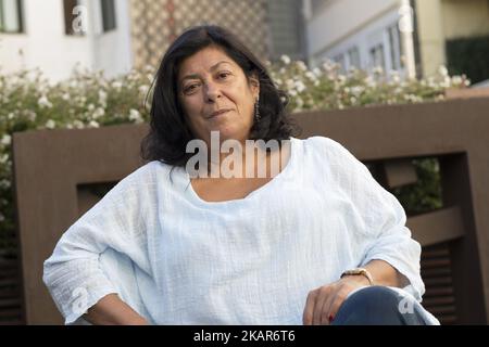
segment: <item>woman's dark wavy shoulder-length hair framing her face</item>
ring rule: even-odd
[[[181,34],[168,48],[158,69],[150,111],[150,130],[141,142],[141,157],[173,166],[184,166],[192,153],[187,143],[196,139],[186,123],[178,100],[177,77],[183,61],[200,50],[215,46],[244,72],[260,80],[260,121],[254,121],[250,140],[288,140],[299,130],[286,114],[287,94],[275,87],[266,68],[230,31],[214,25],[197,26]]]

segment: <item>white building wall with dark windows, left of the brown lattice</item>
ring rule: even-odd
[[[0,0],[0,67],[39,67],[53,80],[74,66],[106,76],[133,65],[127,0]]]

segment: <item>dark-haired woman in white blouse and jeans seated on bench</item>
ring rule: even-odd
[[[438,323],[399,202],[339,143],[294,138],[286,103],[228,31],[172,44],[149,163],[45,262],[67,324]]]

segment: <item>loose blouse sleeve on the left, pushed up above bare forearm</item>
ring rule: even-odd
[[[118,294],[101,268],[102,253],[112,248],[143,261],[140,195],[140,184],[131,174],[65,231],[45,261],[42,280],[66,324],[105,295]]]

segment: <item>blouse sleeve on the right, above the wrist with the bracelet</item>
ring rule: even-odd
[[[409,280],[403,290],[421,301],[425,293],[419,270],[421,245],[411,237],[405,226],[404,208],[344,146],[330,139],[328,142],[331,165],[337,168],[334,170],[336,180],[351,200],[353,215],[361,220],[355,230],[362,233],[360,240],[363,241],[360,247],[363,259],[359,266],[374,259],[387,261]]]

